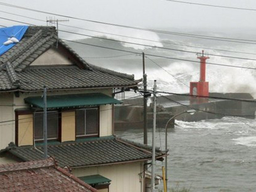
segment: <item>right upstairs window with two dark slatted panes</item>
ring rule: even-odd
[[[76,110],[76,136],[96,136],[99,134],[99,109]]]

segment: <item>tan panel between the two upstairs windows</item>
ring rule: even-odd
[[[75,111],[61,113],[61,142],[75,141]]]

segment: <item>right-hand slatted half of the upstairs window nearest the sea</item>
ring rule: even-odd
[[[86,135],[99,133],[99,113],[98,108],[86,109],[85,133]]]

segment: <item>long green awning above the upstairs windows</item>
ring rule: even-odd
[[[24,101],[26,104],[30,104],[33,107],[44,107],[43,97],[41,96],[27,97]],[[47,96],[47,108],[84,107],[120,103],[122,102],[103,93]]]

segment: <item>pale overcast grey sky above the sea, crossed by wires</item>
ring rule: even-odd
[[[183,0],[186,2],[233,6],[256,9],[255,0]],[[214,8],[190,5],[166,0],[0,0],[27,8],[70,15],[90,20],[151,28],[252,28],[255,29],[256,11]],[[46,20],[48,14],[40,14],[0,5],[2,11],[22,14]],[[34,21],[0,12],[0,17],[28,21],[33,24],[46,23]],[[57,18],[57,17],[56,17]],[[60,17],[58,17],[60,18]],[[17,24],[1,19],[2,25]],[[71,20],[69,24],[89,26],[89,23]],[[97,25],[99,26],[99,24]],[[102,27],[102,26],[99,26]],[[104,27],[104,26],[103,26]]]

